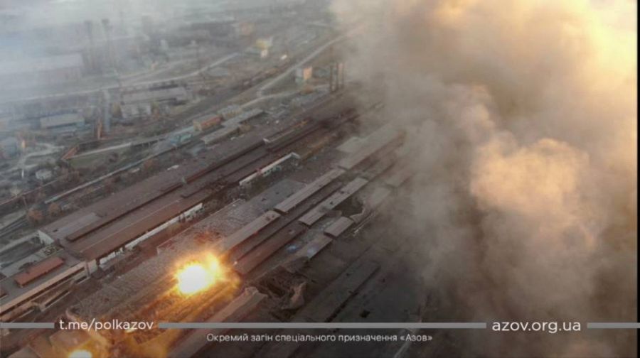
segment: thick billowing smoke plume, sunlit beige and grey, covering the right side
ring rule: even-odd
[[[578,321],[470,333],[484,357],[635,356],[635,1],[334,0],[348,75],[411,128],[403,220],[464,320]],[[452,317],[454,318],[454,317]]]

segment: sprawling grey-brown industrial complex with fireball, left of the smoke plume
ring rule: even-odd
[[[367,305],[358,292],[378,290],[401,251],[366,230],[412,176],[405,132],[380,118],[378,94],[346,83],[347,35],[326,4],[265,3],[162,30],[87,20],[74,55],[2,67],[36,70],[0,107],[1,322],[329,322]],[[56,324],[3,328],[2,356],[313,349]]]

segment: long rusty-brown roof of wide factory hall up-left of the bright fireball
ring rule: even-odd
[[[147,230],[206,200],[210,195],[207,185],[219,179],[220,172],[215,163],[224,163],[226,158],[244,151],[247,141],[261,142],[260,138],[246,136],[224,143],[225,150],[207,151],[193,161],[181,163],[182,170],[163,171],[146,178],[46,225],[41,232],[85,259],[110,254]],[[200,176],[193,176],[188,185],[183,184],[183,178],[197,173]],[[78,221],[83,223],[78,224]]]

